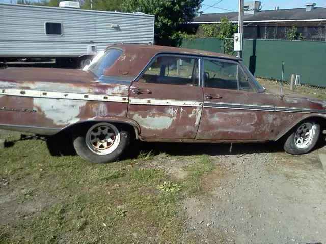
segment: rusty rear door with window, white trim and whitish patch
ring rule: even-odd
[[[128,118],[142,138],[194,139],[203,106],[200,59],[161,54],[129,88]]]

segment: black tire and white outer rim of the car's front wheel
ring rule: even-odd
[[[301,130],[301,128],[304,128],[305,125],[309,125],[309,123],[312,125],[312,128],[309,130],[312,132],[312,136],[309,139],[306,144],[300,145],[300,143],[297,142],[298,138],[302,138],[297,134],[298,131]],[[284,150],[293,155],[300,155],[300,154],[307,154],[309,153],[316,145],[320,135],[320,125],[316,123],[316,121],[313,120],[306,120],[295,126],[291,132],[288,134],[288,137],[285,140],[284,143]]]

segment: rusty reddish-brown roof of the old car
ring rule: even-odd
[[[235,56],[226,55],[218,52],[210,52],[198,49],[181,48],[181,47],[169,47],[160,45],[147,45],[147,44],[115,44],[112,46],[120,47],[127,52],[138,52],[138,51],[150,51],[151,54],[158,53],[179,53],[179,54],[189,54],[189,55],[199,55],[199,56],[209,56],[209,57],[220,57],[232,60],[240,60]],[[111,46],[111,47],[112,47]],[[137,51],[136,51],[137,50]]]

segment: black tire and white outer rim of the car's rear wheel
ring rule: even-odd
[[[112,131],[116,131],[119,135],[119,140],[117,139],[117,133],[114,136],[114,142],[111,146],[114,145],[112,149],[113,151],[103,154],[103,151],[100,149],[95,148],[95,146],[91,147],[91,143],[87,142],[87,140],[91,139],[91,136],[94,137],[91,133],[94,131],[95,128],[99,127],[110,127]],[[118,142],[117,142],[118,141]],[[103,164],[103,163],[111,163],[116,161],[125,151],[125,149],[129,146],[130,143],[130,132],[127,127],[118,124],[111,124],[111,123],[96,123],[89,127],[84,127],[80,130],[75,130],[73,133],[73,146],[77,152],[77,154],[82,157],[84,160],[94,163],[94,164]],[[92,149],[91,149],[92,148]],[[110,148],[110,146],[108,147]],[[105,150],[108,150],[105,149]],[[108,150],[110,151],[110,150]],[[102,154],[99,154],[102,153]]]

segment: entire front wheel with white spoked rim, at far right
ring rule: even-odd
[[[284,144],[284,150],[289,154],[306,154],[311,151],[319,138],[320,125],[315,121],[304,121],[297,125]]]

